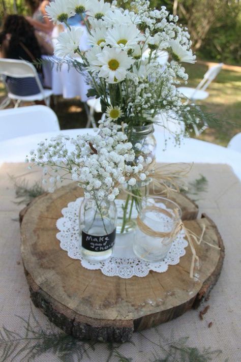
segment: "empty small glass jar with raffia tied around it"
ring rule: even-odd
[[[182,211],[175,202],[159,196],[145,198],[134,235],[136,256],[148,262],[165,259],[180,231],[181,217]]]

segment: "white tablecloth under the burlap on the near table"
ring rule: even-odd
[[[93,133],[91,129],[62,130],[59,132],[38,133],[25,137],[18,137],[0,142],[0,163],[23,162],[31,149],[45,138],[53,137],[59,133],[75,137],[77,134]],[[155,132],[157,139],[157,162],[195,162],[195,163],[221,163],[228,164],[241,179],[241,153],[232,149],[218,146],[213,143],[187,138],[180,146],[176,146],[172,139],[167,141],[164,150],[164,134]],[[71,145],[70,145],[71,147]]]

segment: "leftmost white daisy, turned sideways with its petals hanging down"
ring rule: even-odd
[[[79,50],[82,35],[83,29],[81,27],[72,27],[71,31],[67,28],[66,32],[59,34],[57,37],[54,55],[58,57],[74,56]]]

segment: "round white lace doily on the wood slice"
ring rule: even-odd
[[[149,270],[158,273],[166,272],[168,265],[179,263],[181,256],[186,254],[185,248],[188,246],[184,233],[181,232],[174,240],[167,257],[160,262],[150,263],[139,259],[132,250],[130,238],[133,234],[116,235],[115,245],[112,256],[101,262],[89,262],[81,255],[81,241],[79,238],[79,207],[82,198],[78,198],[74,202],[70,202],[67,207],[63,208],[63,218],[56,222],[59,230],[56,237],[60,241],[60,246],[68,252],[68,256],[72,259],[79,259],[86,269],[101,269],[102,273],[108,277],[118,276],[128,279],[133,276],[145,277]]]

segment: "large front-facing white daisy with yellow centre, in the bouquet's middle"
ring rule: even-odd
[[[107,46],[100,54],[97,54],[97,58],[98,61],[93,64],[101,67],[99,77],[107,79],[109,83],[124,80],[127,69],[134,63],[134,59],[131,59],[125,50]]]

